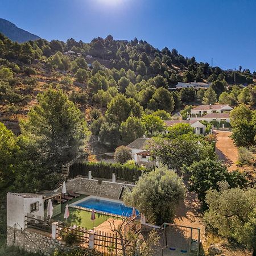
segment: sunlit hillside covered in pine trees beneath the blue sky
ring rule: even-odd
[[[186,105],[219,100],[255,106],[255,74],[238,71],[238,85],[229,86],[234,73],[197,63],[176,49],[160,51],[137,38],[127,42],[109,35],[90,43],[71,38],[19,44],[0,35],[0,58],[0,121],[15,133],[36,95],[49,87],[64,90],[85,114],[92,133],[114,147],[163,129],[162,119]],[[208,90],[170,89],[177,81],[194,80],[212,85]]]

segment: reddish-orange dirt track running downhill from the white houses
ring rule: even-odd
[[[236,161],[238,157],[237,147],[234,145],[229,131],[214,131],[216,135],[216,154],[218,159],[224,161],[228,165],[229,171],[236,170]]]

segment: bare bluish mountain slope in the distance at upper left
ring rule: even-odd
[[[23,30],[22,28],[17,27],[14,23],[11,23],[9,20],[3,18],[0,18],[0,32],[10,40],[18,43],[40,39],[38,35]]]

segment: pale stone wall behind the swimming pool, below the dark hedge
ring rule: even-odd
[[[118,199],[120,188],[123,183],[86,179],[84,177],[76,177],[75,179],[68,180],[66,183],[67,191],[84,191],[89,195],[105,196],[112,199]],[[135,187],[132,184],[126,184],[131,190]],[[59,188],[61,191],[61,187]]]

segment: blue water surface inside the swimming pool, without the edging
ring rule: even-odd
[[[131,216],[131,213],[133,211],[133,208],[127,207],[124,204],[95,198],[82,201],[81,203],[76,205],[79,207],[100,210],[101,212],[125,216],[126,214]],[[136,210],[136,213],[139,214],[138,210]]]

